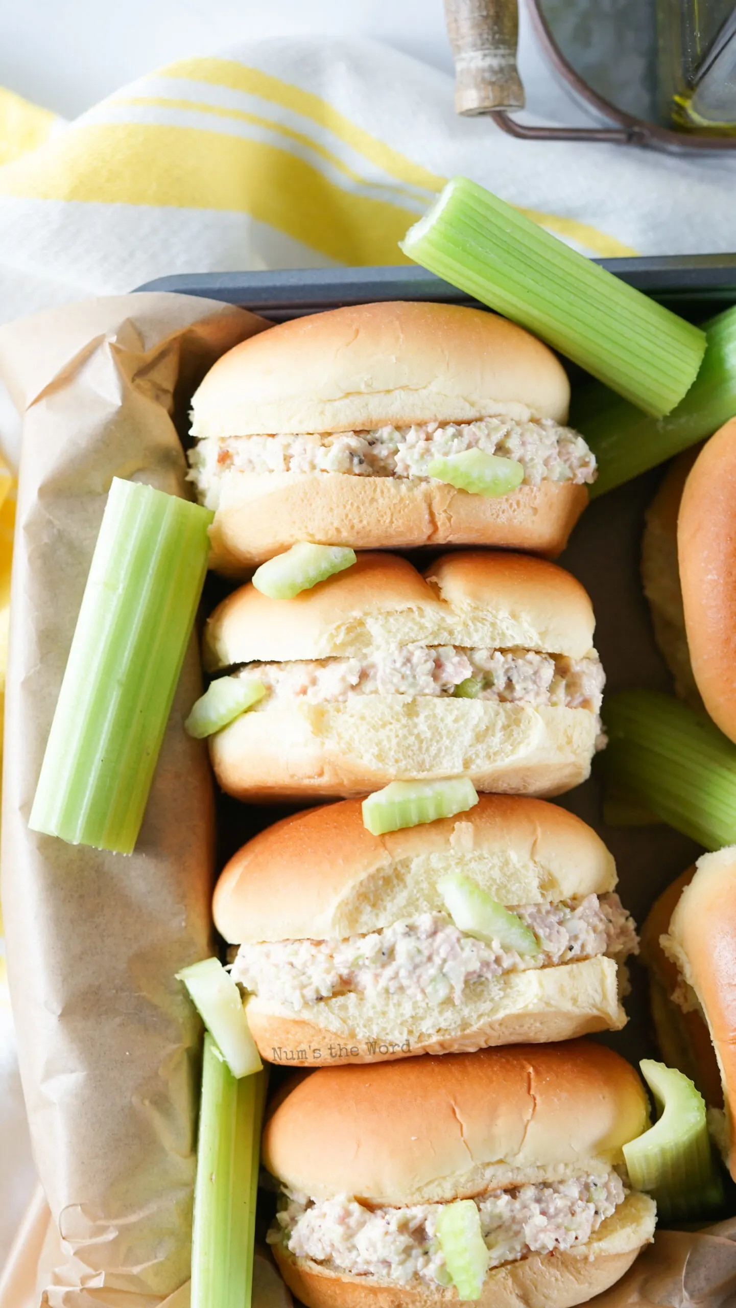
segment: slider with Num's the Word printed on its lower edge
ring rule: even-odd
[[[638,942],[579,818],[484,795],[373,836],[358,800],[269,827],[227,863],[214,923],[264,1059],[315,1066],[618,1029]]]

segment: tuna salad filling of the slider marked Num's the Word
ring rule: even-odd
[[[618,895],[587,895],[558,904],[514,908],[532,929],[537,954],[522,955],[458,930],[446,913],[420,913],[382,931],[346,940],[271,940],[242,944],[233,978],[251,994],[299,1011],[306,1003],[358,993],[369,999],[463,1001],[465,986],[506,972],[549,968],[600,954],[638,952],[634,922]]]

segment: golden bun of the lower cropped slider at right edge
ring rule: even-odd
[[[736,1180],[736,846],[698,858],[664,937],[705,1012],[720,1069],[728,1169]]]

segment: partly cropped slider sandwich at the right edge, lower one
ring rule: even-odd
[[[642,959],[661,1056],[699,1090],[736,1180],[736,848],[703,854],[660,895]]]

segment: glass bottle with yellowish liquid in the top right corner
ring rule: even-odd
[[[736,0],[656,0],[663,124],[736,136]]]

